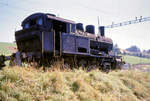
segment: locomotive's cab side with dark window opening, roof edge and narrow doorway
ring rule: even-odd
[[[75,32],[75,22],[47,14],[46,25],[53,34],[54,55],[60,55],[62,51],[62,34]]]

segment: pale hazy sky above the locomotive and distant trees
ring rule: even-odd
[[[52,13],[98,27],[150,16],[150,0],[0,0],[0,42],[14,42],[21,22],[37,12]],[[132,45],[150,49],[150,21],[105,29],[106,37],[122,49]]]

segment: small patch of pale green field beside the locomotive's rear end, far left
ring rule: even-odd
[[[12,51],[8,47],[15,47],[13,43],[0,42],[0,55],[11,55]]]

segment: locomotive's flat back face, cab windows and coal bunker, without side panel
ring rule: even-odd
[[[31,15],[22,22],[22,30],[15,32],[19,52],[40,52],[42,50],[43,17],[41,14]]]

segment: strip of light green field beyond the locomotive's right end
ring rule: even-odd
[[[124,55],[123,60],[130,64],[150,64],[150,59]]]

